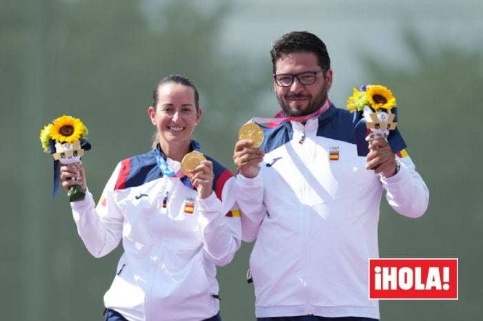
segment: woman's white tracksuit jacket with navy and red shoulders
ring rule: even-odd
[[[101,257],[122,240],[124,254],[104,296],[128,320],[200,321],[219,311],[215,265],[241,242],[235,178],[213,161],[211,196],[197,199],[180,178],[162,177],[154,149],[117,165],[97,207],[92,195],[71,203],[88,251]],[[168,158],[172,168],[179,163]]]

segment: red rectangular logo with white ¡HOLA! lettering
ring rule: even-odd
[[[457,298],[457,258],[369,259],[369,299]]]

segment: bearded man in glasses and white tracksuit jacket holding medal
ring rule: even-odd
[[[290,32],[270,54],[290,119],[263,128],[262,148],[242,140],[233,155],[242,240],[257,238],[257,320],[378,319],[368,258],[378,257],[382,191],[397,213],[415,218],[426,211],[428,189],[411,158],[396,159],[383,139],[357,156],[352,114],[328,101],[333,71],[318,37]]]

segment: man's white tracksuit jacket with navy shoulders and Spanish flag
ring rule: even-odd
[[[357,156],[353,116],[333,105],[306,125],[264,128],[256,178],[237,176],[242,240],[258,318],[319,315],[380,318],[368,300],[368,258],[378,257],[382,192],[397,213],[424,214],[428,189],[409,156],[384,178]]]

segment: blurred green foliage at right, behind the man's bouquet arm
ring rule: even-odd
[[[458,301],[381,301],[384,320],[475,320],[481,314],[483,143],[480,136],[482,52],[450,44],[428,48],[404,33],[411,68],[395,68],[365,56],[367,82],[387,85],[397,98],[398,123],[409,156],[430,191],[417,220],[395,214],[382,202],[380,256],[459,258]]]

